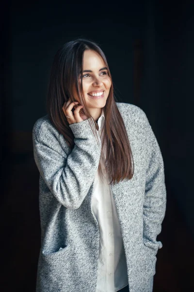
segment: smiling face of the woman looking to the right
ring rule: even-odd
[[[111,88],[111,79],[104,61],[95,51],[86,50],[83,55],[82,85],[85,102],[94,117],[101,113]]]

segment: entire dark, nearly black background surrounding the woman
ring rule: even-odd
[[[46,114],[54,54],[76,37],[100,45],[117,101],[145,111],[162,151],[167,207],[154,292],[194,291],[193,8],[193,1],[171,0],[1,3],[1,291],[35,291],[40,218],[32,127]]]

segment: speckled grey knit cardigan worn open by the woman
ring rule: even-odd
[[[145,112],[118,103],[134,160],[134,175],[111,185],[125,248],[129,292],[151,292],[162,242],[166,188],[162,154]],[[69,125],[75,145],[48,115],[32,130],[40,172],[41,249],[36,292],[96,292],[99,227],[91,208],[100,148],[87,120]]]

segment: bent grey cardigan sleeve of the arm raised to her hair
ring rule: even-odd
[[[37,120],[32,129],[33,154],[40,175],[57,201],[77,209],[94,181],[101,150],[88,119],[69,126],[75,145],[67,155],[59,141],[60,133],[48,121]]]

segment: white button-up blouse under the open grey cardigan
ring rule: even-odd
[[[105,120],[104,110],[98,119],[99,134]],[[106,147],[104,147],[106,149]],[[102,158],[103,181],[96,172],[92,209],[97,218],[100,232],[100,247],[96,292],[116,292],[128,285],[126,256],[120,224],[115,209],[113,194],[106,179],[105,152]]]

